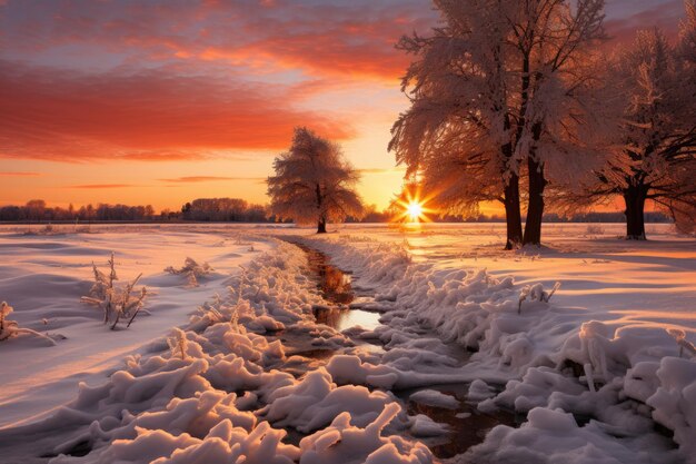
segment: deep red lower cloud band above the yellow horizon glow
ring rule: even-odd
[[[352,136],[340,118],[295,109],[285,90],[166,68],[86,75],[0,61],[0,158],[200,160],[285,148],[298,125]]]

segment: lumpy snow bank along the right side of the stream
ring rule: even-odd
[[[327,367],[337,382],[478,379],[469,401],[480,409],[529,414],[519,430],[495,428],[470,462],[673,462],[655,422],[674,432],[678,460],[694,462],[686,437],[696,436],[696,363],[683,330],[587,319],[587,309],[555,303],[558,285],[520,287],[486,269],[410,263],[402,250],[351,237],[304,240],[355,272],[358,285],[378,283],[386,313],[386,326],[360,335],[390,348],[382,363],[337,358]],[[466,363],[453,361],[453,344],[473,352]],[[486,382],[506,385],[496,394]]]

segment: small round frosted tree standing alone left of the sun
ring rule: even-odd
[[[358,172],[340,147],[307,128],[297,128],[290,149],[274,161],[268,178],[271,210],[279,218],[316,223],[326,233],[328,221],[360,217],[362,201],[355,190]]]

